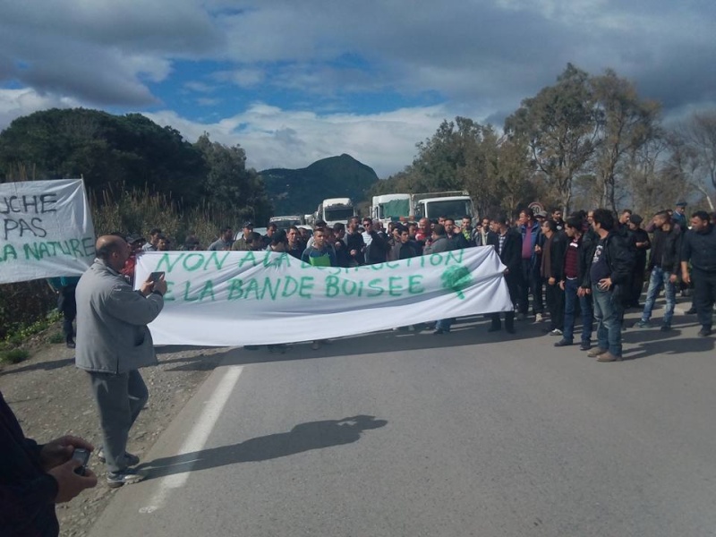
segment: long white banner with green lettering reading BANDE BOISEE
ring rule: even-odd
[[[146,252],[135,284],[163,271],[158,345],[267,345],[354,336],[510,311],[491,246],[357,268],[311,267],[268,251]]]

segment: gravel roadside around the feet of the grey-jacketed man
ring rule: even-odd
[[[72,434],[101,444],[97,410],[87,373],[74,367],[74,352],[62,345],[30,343],[30,358],[0,370],[0,390],[25,435],[39,442]],[[128,449],[143,456],[166,426],[226,355],[226,348],[158,347],[159,365],[141,370],[149,403],[132,427]],[[104,480],[104,465],[92,457],[98,486],[57,506],[60,535],[87,535],[114,490]]]

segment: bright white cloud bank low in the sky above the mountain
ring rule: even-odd
[[[374,115],[317,115],[282,110],[262,103],[243,114],[216,123],[199,123],[166,110],[145,114],[160,125],[171,125],[189,141],[209,132],[213,141],[240,144],[249,166],[300,168],[320,159],[347,153],[386,177],[410,164],[415,143],[430,137],[443,119],[444,107],[405,108]]]

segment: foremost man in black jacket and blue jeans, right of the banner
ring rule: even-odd
[[[622,359],[623,300],[630,289],[634,250],[629,237],[619,233],[608,209],[594,210],[592,227],[599,235],[590,267],[598,346],[587,356],[596,356],[599,362],[617,362]]]

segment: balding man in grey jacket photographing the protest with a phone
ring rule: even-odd
[[[115,488],[143,478],[131,468],[140,461],[127,453],[127,438],[149,397],[137,370],[157,363],[147,324],[162,311],[166,281],[147,280],[134,291],[119,273],[129,244],[104,235],[95,248],[97,259],[77,285],[75,361],[90,374],[104,440],[98,458],[107,463],[107,484]]]

